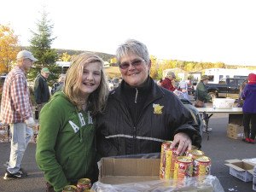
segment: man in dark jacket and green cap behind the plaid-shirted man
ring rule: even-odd
[[[38,113],[40,113],[45,103],[49,101],[49,87],[47,84],[48,77],[49,69],[44,67],[34,82],[34,95],[37,103]]]

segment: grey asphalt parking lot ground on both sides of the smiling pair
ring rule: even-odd
[[[253,191],[252,182],[242,182],[230,176],[229,167],[225,160],[256,158],[256,144],[243,143],[241,140],[226,137],[227,114],[214,114],[210,119],[212,127],[209,140],[203,134],[202,151],[212,159],[212,175],[218,177],[224,191],[250,192]],[[29,176],[21,180],[3,180],[5,166],[9,159],[9,143],[0,143],[0,191],[2,192],[41,192],[45,191],[44,175],[39,171],[35,161],[36,143],[29,143],[23,160],[23,168]]]

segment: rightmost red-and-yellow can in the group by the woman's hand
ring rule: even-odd
[[[211,159],[207,156],[200,156],[194,160],[193,176],[206,176],[211,174]]]

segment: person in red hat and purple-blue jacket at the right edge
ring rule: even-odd
[[[241,98],[244,100],[242,106],[243,118],[242,124],[244,127],[246,143],[255,144],[256,135],[256,74],[248,75],[248,83],[241,92]],[[251,125],[251,127],[250,127]]]

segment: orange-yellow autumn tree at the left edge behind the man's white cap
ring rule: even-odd
[[[0,25],[0,73],[8,73],[19,52],[18,37],[9,26]]]

